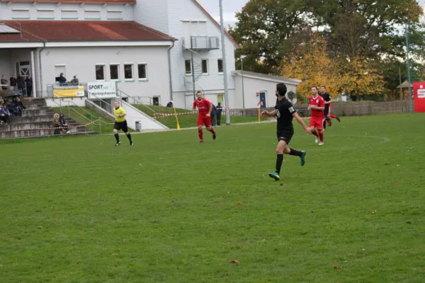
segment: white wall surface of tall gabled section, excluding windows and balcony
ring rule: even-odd
[[[164,12],[164,11],[168,11]],[[138,0],[135,6],[134,21],[155,28],[163,33],[176,37],[178,41],[171,50],[171,70],[173,83],[173,101],[175,105],[184,107],[185,94],[188,86],[184,84],[185,59],[191,59],[189,51],[183,51],[182,38],[185,37],[183,20],[201,20],[207,23],[207,35],[220,38],[220,50],[210,50],[194,54],[195,62],[201,64],[202,59],[209,60],[209,75],[202,76],[196,82],[196,88],[200,91],[215,91],[224,93],[224,78],[218,74],[217,59],[222,58],[220,28],[206,15],[192,0]],[[229,37],[225,37],[228,88],[234,88],[234,79],[231,72],[234,71],[234,43]],[[190,79],[190,77],[189,77]]]

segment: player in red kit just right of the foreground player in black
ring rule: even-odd
[[[308,110],[312,110],[312,118],[310,119],[310,127],[316,129],[312,130],[312,134],[316,136],[316,144],[322,146],[323,143],[323,119],[324,119],[324,99],[319,96],[319,88],[312,87],[312,96],[310,96],[310,105]],[[319,132],[317,132],[319,131]],[[320,142],[319,142],[320,140]]]

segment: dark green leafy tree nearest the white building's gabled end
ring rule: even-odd
[[[235,56],[246,55],[247,71],[277,74],[280,61],[290,53],[291,37],[307,28],[309,15],[305,0],[250,0],[229,30],[242,45]]]

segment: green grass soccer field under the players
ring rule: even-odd
[[[424,282],[424,122],[0,141],[0,282]]]

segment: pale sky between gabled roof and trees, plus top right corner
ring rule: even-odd
[[[228,25],[234,25],[236,23],[236,18],[234,18],[234,13],[241,11],[242,7],[249,0],[222,0],[223,3],[223,21],[225,23],[225,28]],[[418,0],[419,4],[425,10],[425,0]],[[219,0],[198,0],[198,2],[211,14],[212,17],[220,23],[220,8]]]

